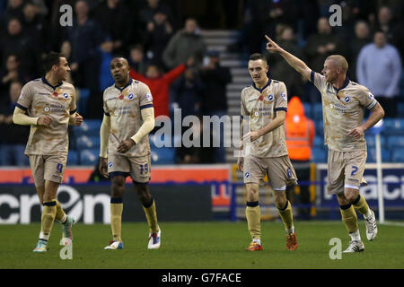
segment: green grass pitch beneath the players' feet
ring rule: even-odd
[[[404,268],[404,227],[379,225],[373,242],[359,228],[364,252],[329,258],[329,239],[349,238],[342,222],[295,222],[299,248],[285,249],[281,222],[262,222],[260,252],[244,251],[250,243],[246,222],[161,222],[162,247],[147,249],[145,223],[123,223],[125,249],[104,250],[110,225],[76,224],[73,259],[59,257],[61,229],[55,223],[49,251],[34,254],[40,224],[0,225],[0,268],[150,268],[150,269],[272,269],[272,268]]]

